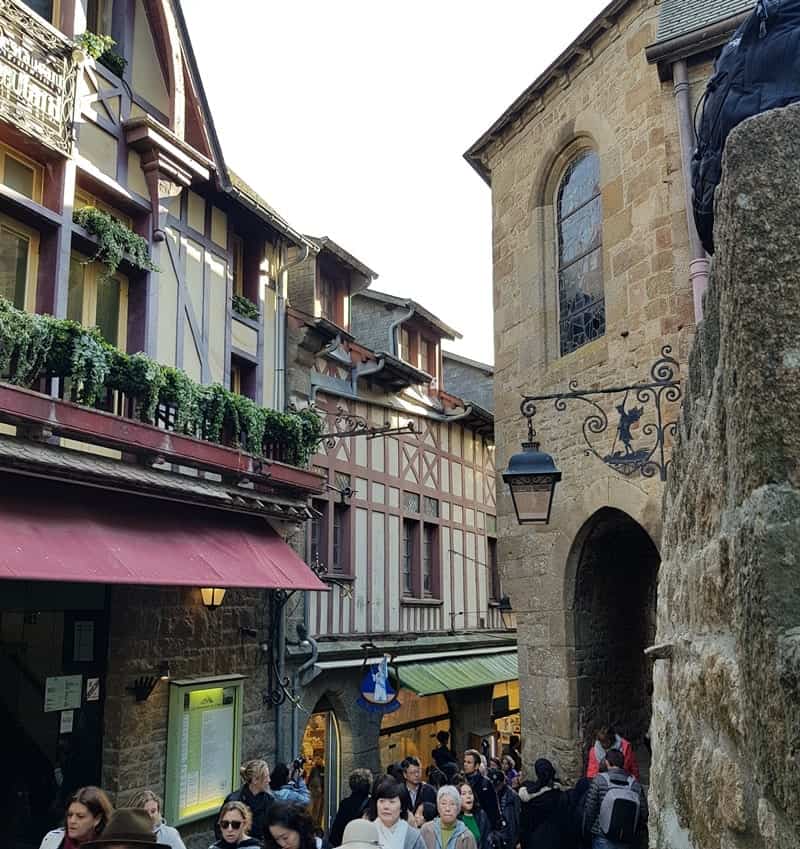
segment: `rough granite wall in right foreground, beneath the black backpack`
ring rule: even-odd
[[[665,500],[653,845],[800,846],[800,106],[728,139]]]

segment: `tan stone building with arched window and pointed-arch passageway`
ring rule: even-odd
[[[751,5],[611,2],[466,152],[492,191],[499,470],[525,436],[521,395],[650,382],[662,352],[685,372],[708,275],[687,215],[691,115]],[[536,405],[537,438],[563,472],[549,525],[519,526],[498,488],[525,760],[548,755],[571,776],[602,723],[649,760],[643,649],[662,535],[660,475],[625,462],[655,447],[654,406],[590,400]],[[641,419],[621,429],[622,411]]]

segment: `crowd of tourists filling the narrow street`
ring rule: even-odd
[[[647,799],[630,743],[601,728],[585,777],[567,787],[540,758],[523,769],[518,739],[501,758],[467,749],[461,758],[440,732],[423,780],[409,756],[374,777],[356,769],[327,833],[312,819],[302,764],[248,761],[242,785],[220,808],[209,849],[635,849],[646,834]],[[185,849],[162,816],[161,799],[139,791],[112,809],[97,787],[76,791],[63,828],[40,849]]]

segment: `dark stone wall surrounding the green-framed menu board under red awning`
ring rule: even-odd
[[[172,678],[239,673],[244,681],[242,759],[273,762],[274,711],[262,704],[266,667],[263,637],[242,636],[241,627],[265,633],[266,592],[229,589],[224,604],[208,611],[200,591],[172,587],[114,587],[110,591],[108,676],[104,705],[103,787],[123,804],[134,790],[164,794],[169,686],[160,682],[146,702],[126,688],[140,675],[169,663]],[[181,829],[187,849],[213,842],[210,820]]]

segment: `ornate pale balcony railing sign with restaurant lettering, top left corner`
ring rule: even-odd
[[[17,0],[0,0],[0,120],[69,156],[74,45]]]

